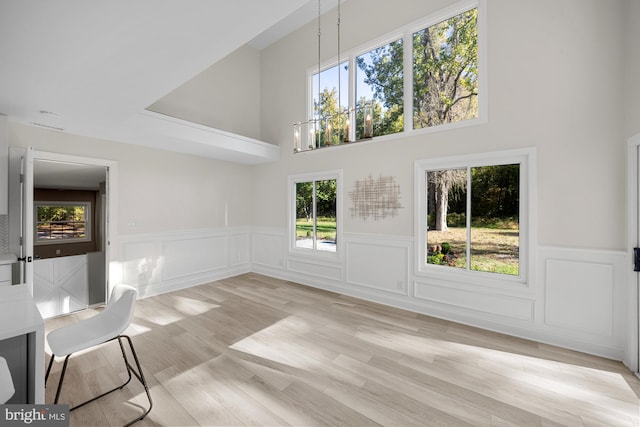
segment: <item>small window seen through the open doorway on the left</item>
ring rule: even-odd
[[[35,244],[76,243],[91,240],[91,204],[35,202]]]

